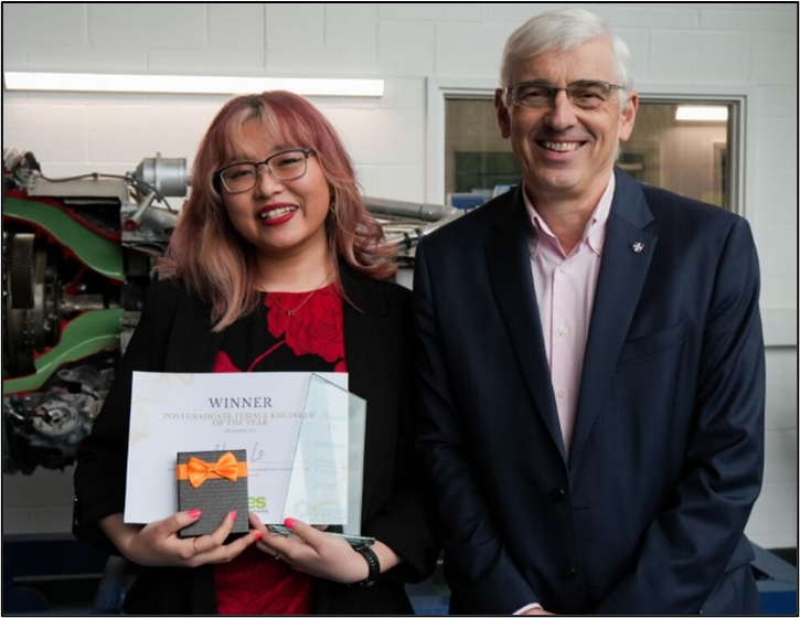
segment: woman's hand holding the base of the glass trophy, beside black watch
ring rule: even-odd
[[[268,532],[258,515],[250,513],[250,526],[262,533],[256,546],[286,562],[295,571],[314,577],[340,584],[353,584],[366,578],[366,561],[344,539],[297,520],[286,520],[284,523],[294,536]]]

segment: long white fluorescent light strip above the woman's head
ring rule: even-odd
[[[7,90],[81,93],[239,94],[290,90],[310,96],[383,96],[383,79],[302,77],[203,77],[99,73],[3,72]]]

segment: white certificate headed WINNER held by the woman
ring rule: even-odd
[[[309,390],[318,383],[331,387]],[[346,524],[346,373],[135,372],[125,521],[178,511],[178,452],[245,449],[249,509],[264,523]]]

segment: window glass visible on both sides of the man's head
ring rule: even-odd
[[[734,99],[644,98],[618,163],[649,184],[737,210],[735,128],[740,106]],[[456,204],[467,194],[489,199],[519,181],[519,167],[509,141],[500,137],[489,96],[446,95],[445,125],[448,202]]]

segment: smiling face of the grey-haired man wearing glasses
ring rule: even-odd
[[[546,52],[514,67],[513,86],[537,81],[564,88],[575,82],[618,84],[611,44],[596,39],[569,52]],[[524,175],[527,194],[535,202],[600,199],[611,175],[617,146],[630,137],[639,104],[634,92],[612,90],[595,109],[575,106],[561,90],[543,107],[530,108],[494,96],[501,135],[511,139]]]

